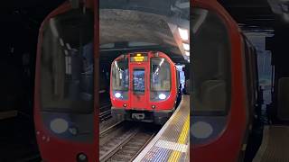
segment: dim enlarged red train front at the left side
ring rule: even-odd
[[[39,31],[34,122],[45,162],[97,160],[95,6],[92,1],[76,1],[74,7],[71,2],[51,12]]]

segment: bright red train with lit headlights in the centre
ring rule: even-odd
[[[160,51],[133,52],[112,62],[111,112],[125,120],[163,124],[180,100],[180,77]]]

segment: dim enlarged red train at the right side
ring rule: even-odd
[[[256,50],[217,0],[194,0],[191,18],[191,160],[242,161],[260,101]]]

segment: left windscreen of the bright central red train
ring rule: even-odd
[[[128,61],[126,58],[115,61],[112,65],[112,88],[115,91],[128,90]]]

